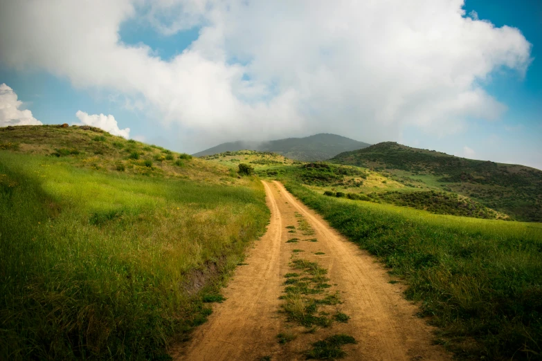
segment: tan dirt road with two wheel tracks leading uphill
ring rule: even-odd
[[[213,315],[181,347],[177,360],[305,360],[311,344],[336,333],[357,343],[343,346],[344,360],[451,360],[433,346],[431,327],[415,316],[400,284],[389,284],[386,271],[329,227],[320,216],[296,200],[278,183],[264,182],[271,223],[267,233],[249,250],[245,266],[224,289],[226,301],[213,306]],[[307,221],[310,236],[295,229]],[[305,223],[305,224],[307,224]],[[289,227],[289,228],[287,228]],[[299,227],[298,227],[299,228]],[[292,237],[299,241],[287,243]],[[347,323],[307,328],[286,321],[281,310],[284,275],[293,259],[307,259],[327,268],[331,288],[340,295]],[[339,306],[338,306],[339,307]],[[279,344],[278,333],[295,335]]]

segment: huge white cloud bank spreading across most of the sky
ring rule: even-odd
[[[467,17],[462,0],[4,1],[0,62],[123,93],[192,146],[329,131],[377,142],[445,134],[505,110],[482,85],[523,74],[516,28]],[[165,35],[201,26],[170,61],[118,36],[127,19]],[[25,24],[21,29],[20,24]],[[214,138],[213,138],[214,137]]]

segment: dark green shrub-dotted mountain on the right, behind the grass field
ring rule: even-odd
[[[401,183],[432,183],[518,221],[542,222],[542,171],[382,142],[329,160],[389,172]]]

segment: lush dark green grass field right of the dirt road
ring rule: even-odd
[[[428,214],[287,189],[404,276],[460,358],[542,358],[542,227]]]

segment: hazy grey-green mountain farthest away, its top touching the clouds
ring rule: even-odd
[[[269,142],[228,142],[216,147],[200,151],[193,156],[210,156],[225,151],[240,151],[249,149],[255,151],[272,151],[287,158],[296,160],[326,160],[344,151],[352,151],[369,147],[369,144],[359,142],[336,134],[320,133],[305,138],[286,138],[270,140]]]

